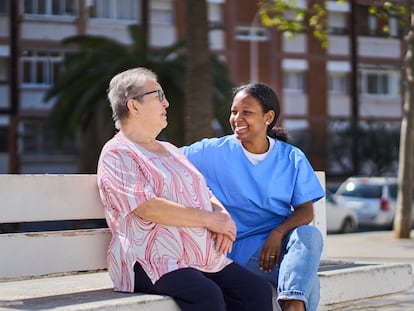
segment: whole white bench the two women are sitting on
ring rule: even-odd
[[[317,175],[325,185],[324,173]],[[139,305],[140,310],[179,311],[170,297],[113,291],[106,271],[111,233],[96,227],[103,219],[96,175],[0,175],[0,310],[129,310]],[[32,230],[39,222],[43,229]],[[315,204],[314,225],[326,239],[324,199]],[[11,232],[1,232],[7,228]],[[322,304],[361,298],[360,292],[344,293],[338,276],[352,280],[347,273],[352,269],[370,277],[378,271],[375,265],[371,271],[332,262],[321,268]],[[406,266],[397,268],[390,272],[394,277],[411,273]],[[406,289],[400,284],[394,292]]]

